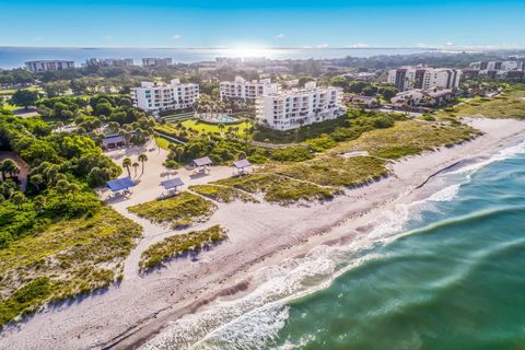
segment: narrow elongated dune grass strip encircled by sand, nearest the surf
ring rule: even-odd
[[[188,253],[199,253],[226,240],[226,230],[214,225],[202,231],[177,234],[145,249],[140,257],[140,269],[160,267],[164,261]]]

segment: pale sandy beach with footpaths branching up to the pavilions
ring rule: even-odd
[[[162,331],[170,322],[213,304],[214,300],[246,294],[260,283],[257,270],[287,258],[304,255],[323,244],[339,244],[359,234],[382,212],[399,203],[418,200],[432,187],[429,176],[462,161],[482,161],[523,137],[525,122],[513,119],[470,119],[485,132],[474,141],[402,159],[390,164],[392,175],[369,186],[347,190],[324,203],[280,207],[262,203],[219,203],[205,223],[172,231],[151,224],[127,211],[127,207],[156,198],[160,180],[180,177],[186,184],[203,184],[232,175],[230,167],[214,167],[209,176],[191,171],[161,174],[165,151],[129,149],[127,156],[147,152],[150,159],[135,189],[140,196],[110,202],[117,211],[144,228],[143,238],[125,262],[124,280],[106,291],[68,304],[45,307],[27,320],[0,335],[1,349],[136,349]],[[122,154],[110,154],[117,163]],[[460,165],[460,164],[459,164]],[[140,170],[139,170],[140,173]],[[138,176],[139,177],[139,176]],[[107,196],[101,191],[101,196]],[[220,223],[229,230],[228,242],[198,256],[196,261],[175,259],[165,268],[142,275],[140,254],[151,244],[173,235]]]

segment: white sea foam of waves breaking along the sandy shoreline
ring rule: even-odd
[[[289,315],[287,303],[296,298],[329,287],[331,281],[366,260],[377,258],[374,247],[388,244],[407,232],[407,222],[432,202],[454,200],[462,185],[479,168],[493,162],[525,153],[525,142],[506,148],[490,159],[447,173],[462,176],[459,183],[408,205],[398,205],[371,222],[368,234],[358,235],[346,246],[318,246],[306,256],[287,259],[276,266],[259,269],[255,278],[264,281],[249,294],[233,301],[217,301],[197,314],[186,315],[150,340],[143,349],[260,349],[278,336]],[[456,178],[457,180],[457,178]],[[307,335],[304,343],[312,340]],[[279,349],[292,349],[284,343]]]

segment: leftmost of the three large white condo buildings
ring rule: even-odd
[[[133,106],[153,115],[162,110],[191,108],[198,97],[198,84],[183,84],[178,79],[173,79],[170,84],[142,82],[140,88],[131,89]]]

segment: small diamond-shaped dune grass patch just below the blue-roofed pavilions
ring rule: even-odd
[[[168,223],[173,229],[207,220],[215,209],[213,202],[187,191],[128,208],[141,218],[154,223]]]

